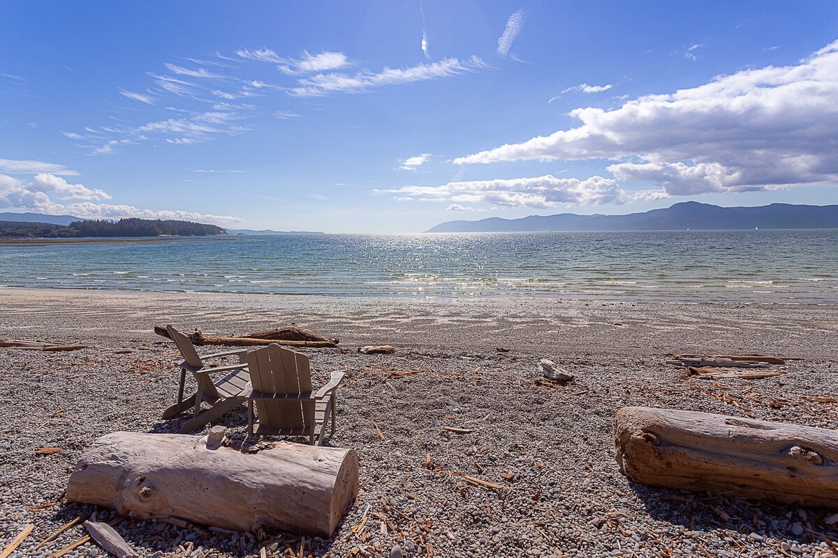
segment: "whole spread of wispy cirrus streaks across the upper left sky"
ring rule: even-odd
[[[215,54],[216,60],[182,58],[165,63],[166,73],[147,72],[147,92],[120,89],[120,95],[146,105],[163,105],[177,118],[137,121],[136,109],[119,125],[87,126],[85,132],[62,132],[93,155],[104,155],[144,141],[194,144],[247,131],[248,120],[288,120],[301,115],[287,109],[288,97],[323,97],[363,93],[396,84],[452,77],[487,67],[482,59],[442,59],[405,68],[363,69],[347,73],[353,64],[341,52],[303,51],[282,57],[272,49],[238,49],[235,55]],[[194,64],[194,65],[190,65]],[[339,71],[344,70],[344,71]],[[284,100],[284,101],[281,101]],[[113,117],[112,117],[113,118]],[[129,124],[130,122],[130,124]]]

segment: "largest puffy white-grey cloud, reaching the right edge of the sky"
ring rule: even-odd
[[[836,107],[838,41],[798,64],[743,69],[614,110],[572,110],[576,128],[454,162],[605,159],[615,177],[669,195],[834,183]]]

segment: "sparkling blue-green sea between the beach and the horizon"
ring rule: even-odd
[[[838,230],[0,245],[0,288],[838,304]]]

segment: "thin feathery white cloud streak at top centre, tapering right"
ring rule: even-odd
[[[385,68],[377,74],[367,70],[353,75],[316,74],[305,79],[299,79],[297,87],[293,87],[289,93],[299,97],[319,97],[334,92],[359,93],[384,85],[446,78],[485,66],[483,60],[473,56],[463,62],[458,59],[447,58],[432,64],[418,64],[409,68]]]

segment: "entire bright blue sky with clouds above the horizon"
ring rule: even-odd
[[[0,211],[418,232],[838,203],[838,3],[6,2]]]

